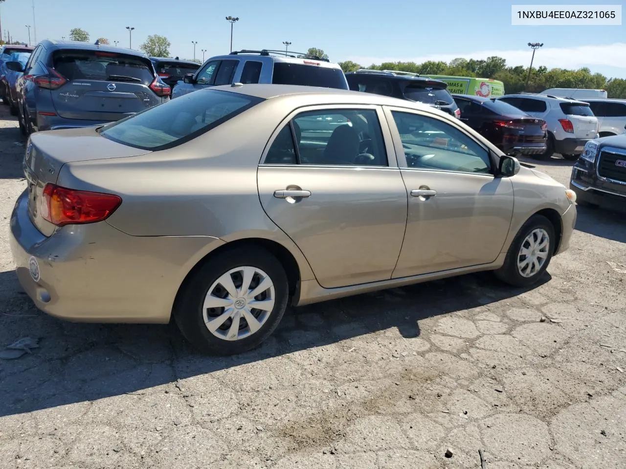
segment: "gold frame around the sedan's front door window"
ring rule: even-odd
[[[490,148],[485,143],[483,143],[479,138],[480,134],[476,133],[476,131],[474,131],[473,129],[469,129],[469,131],[467,131],[466,129],[461,128],[461,126],[459,126],[458,123],[452,120],[452,119],[456,120],[452,116],[450,116],[450,118],[448,119],[442,116],[437,116],[434,113],[429,113],[428,111],[421,111],[421,110],[413,109],[413,108],[401,108],[399,106],[382,106],[382,108],[384,110],[387,123],[389,124],[389,128],[391,129],[396,158],[398,159],[398,167],[400,169],[403,169],[403,170],[408,169],[411,171],[439,171],[442,173],[449,173],[449,174],[472,174],[473,176],[488,176],[490,178],[496,178],[496,173],[498,171],[498,163],[500,162],[499,161],[500,154],[496,153],[496,151],[494,151],[492,148]],[[439,169],[439,168],[430,169],[430,168],[409,167],[408,164],[406,163],[406,155],[404,154],[404,147],[402,144],[402,139],[400,137],[400,132],[398,131],[398,127],[396,126],[396,121],[393,118],[392,111],[396,111],[400,113],[407,113],[407,114],[415,114],[416,116],[435,119],[437,121],[441,121],[444,124],[448,124],[449,126],[456,128],[459,132],[464,133],[466,136],[468,136],[468,138],[472,139],[476,144],[481,146],[481,148],[485,149],[489,157],[489,160],[491,162],[490,172],[489,173],[470,173],[469,171],[451,171],[449,169]]]

